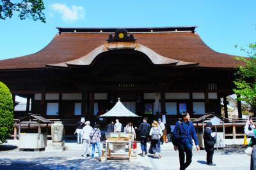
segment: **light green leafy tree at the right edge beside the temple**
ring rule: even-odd
[[[236,60],[244,62],[244,66],[239,66],[234,81],[236,89],[234,92],[241,96],[237,100],[250,104],[254,117],[256,116],[256,44],[250,44],[248,50],[242,48],[249,58],[236,57]]]

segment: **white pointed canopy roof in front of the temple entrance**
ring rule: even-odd
[[[118,101],[115,104],[115,106],[104,115],[101,115],[100,117],[140,117],[140,116],[132,113],[127,108],[125,108],[124,104],[122,104],[122,102],[120,101],[120,98],[118,98]]]

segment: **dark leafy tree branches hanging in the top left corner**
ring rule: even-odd
[[[1,0],[0,19],[12,18],[13,12],[17,12],[20,20],[32,18],[45,23],[44,9],[42,0]]]

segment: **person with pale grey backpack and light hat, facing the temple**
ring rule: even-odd
[[[149,148],[149,153],[154,153],[154,158],[158,157],[161,158],[161,148],[160,148],[160,138],[163,136],[163,131],[161,127],[159,127],[158,122],[154,120],[152,127],[150,129],[149,135],[151,136],[151,145]]]

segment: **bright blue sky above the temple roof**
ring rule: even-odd
[[[0,20],[0,59],[35,53],[56,27],[164,27],[198,25],[196,32],[216,52],[246,56],[234,48],[256,42],[255,0],[44,1],[46,24]]]

